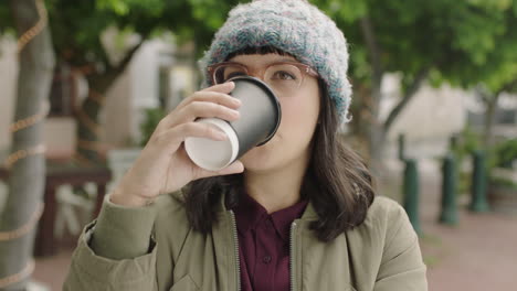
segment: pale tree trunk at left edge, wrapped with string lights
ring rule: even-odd
[[[34,0],[11,0],[11,11],[19,35],[32,28],[41,15]],[[40,114],[49,96],[54,68],[54,52],[49,29],[32,39],[20,53],[18,95],[14,120]],[[17,131],[11,152],[43,143],[43,122]],[[25,225],[42,202],[45,181],[45,159],[42,154],[18,160],[10,169],[9,195],[0,217],[0,231],[12,231]],[[27,235],[0,241],[0,277],[19,273],[32,258],[35,227]],[[0,290],[25,290],[27,280]]]

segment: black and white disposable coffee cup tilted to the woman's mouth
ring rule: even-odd
[[[196,120],[224,132],[228,140],[197,137],[184,140],[184,149],[192,162],[209,171],[222,170],[251,149],[265,144],[276,133],[282,119],[278,98],[264,82],[250,76],[230,80],[235,83],[230,95],[241,100],[238,109],[241,117],[231,122],[219,118]]]

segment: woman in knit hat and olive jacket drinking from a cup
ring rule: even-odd
[[[347,45],[302,0],[230,12],[200,62],[205,88],[165,117],[74,252],[64,290],[426,290],[404,211],[374,197],[347,122]],[[198,117],[238,119],[235,75],[278,96],[274,138],[220,172],[187,137],[224,140]],[[159,196],[159,197],[158,197]]]

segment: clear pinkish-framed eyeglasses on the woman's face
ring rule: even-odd
[[[250,69],[240,63],[224,62],[208,67],[214,85],[233,77],[250,76]],[[295,62],[278,62],[265,67],[258,76],[279,96],[293,96],[304,83],[305,75],[318,77],[318,73],[308,65]]]

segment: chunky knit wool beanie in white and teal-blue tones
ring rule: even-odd
[[[224,62],[246,46],[274,46],[314,67],[327,86],[341,123],[350,120],[347,42],[336,23],[315,6],[306,0],[254,0],[233,8],[199,62],[204,87],[213,85],[208,66]]]

